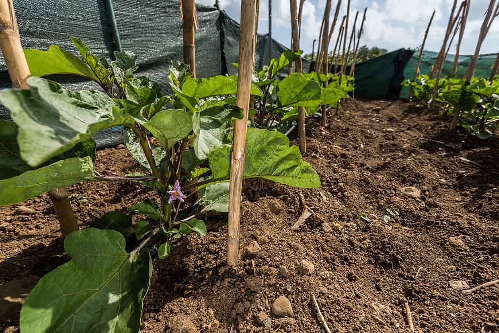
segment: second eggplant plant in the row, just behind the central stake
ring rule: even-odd
[[[333,74],[292,73],[280,80],[279,72],[296,61],[302,52],[286,50],[271,59],[268,66],[253,72],[252,83],[262,92],[261,95],[254,95],[251,112],[253,127],[278,129],[282,124],[298,118],[298,106],[305,107],[308,116],[320,105],[335,107],[341,99],[348,98],[348,92],[353,90],[352,81],[346,79],[340,86],[339,76]],[[238,67],[237,63],[233,65]],[[332,84],[322,88],[326,80]]]

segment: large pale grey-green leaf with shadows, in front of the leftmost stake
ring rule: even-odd
[[[8,89],[0,102],[19,127],[17,143],[22,159],[39,166],[97,132],[127,124],[131,117],[113,100],[95,90],[72,92],[61,85],[30,77],[31,89]]]

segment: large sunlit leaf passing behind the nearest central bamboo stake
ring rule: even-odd
[[[230,146],[219,148],[210,155],[210,168],[215,180],[229,179],[230,166]],[[249,128],[246,137],[243,177],[265,178],[294,187],[320,186],[317,172],[301,160],[298,147],[289,147],[289,140],[284,134],[255,128]]]

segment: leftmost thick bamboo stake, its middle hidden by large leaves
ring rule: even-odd
[[[7,64],[12,88],[29,89],[26,83],[30,76],[29,67],[22,50],[12,0],[0,1],[0,48]],[[69,203],[67,189],[56,188],[49,191],[48,195],[52,200],[62,236],[66,237],[71,231],[77,231],[78,224]]]

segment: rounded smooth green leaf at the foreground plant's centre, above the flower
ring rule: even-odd
[[[173,147],[192,130],[192,115],[185,110],[164,110],[144,124],[163,148]]]

